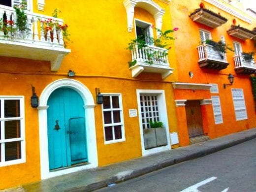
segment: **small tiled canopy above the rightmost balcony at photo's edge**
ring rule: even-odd
[[[227,32],[229,35],[243,40],[253,39],[256,36],[256,32],[250,31],[246,28],[242,28],[239,25],[231,25],[230,29]]]

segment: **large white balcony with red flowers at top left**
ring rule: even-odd
[[[52,19],[53,22],[63,25],[63,20],[31,12],[26,14],[27,27],[30,29],[27,32],[4,34],[0,31],[0,56],[49,61],[51,70],[58,71],[70,49],[64,48],[62,30],[56,30],[54,27],[51,32],[47,31],[40,21]],[[13,8],[0,5],[0,18],[3,16],[6,16],[7,20],[15,21],[16,13]]]

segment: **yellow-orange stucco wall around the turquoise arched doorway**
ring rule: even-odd
[[[162,29],[172,29],[169,6],[156,0],[166,11]],[[53,10],[62,11],[59,18],[68,24],[71,34],[68,47],[71,53],[64,58],[58,72],[51,72],[50,63],[0,57],[0,95],[25,97],[26,162],[0,167],[0,189],[14,187],[40,180],[40,149],[38,110],[30,106],[33,85],[40,96],[47,85],[55,80],[68,78],[69,69],[75,71],[73,79],[83,83],[96,99],[95,88],[101,93],[122,94],[126,141],[104,144],[101,105],[95,107],[95,125],[98,165],[128,160],[142,155],[139,117],[129,117],[128,109],[137,109],[136,89],[164,90],[169,122],[169,132],[177,131],[174,94],[171,82],[177,72],[165,80],[157,73],[142,73],[131,78],[128,61],[131,53],[126,49],[135,38],[134,29],[128,32],[127,13],[123,0],[65,1],[46,0],[45,10],[33,11],[51,16]],[[155,25],[153,15],[142,8],[135,8],[134,18]],[[154,31],[154,35],[156,32]],[[175,49],[169,51],[169,63],[176,68]],[[95,101],[96,102],[96,101]],[[12,178],[12,179],[9,179]]]

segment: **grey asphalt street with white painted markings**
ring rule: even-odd
[[[256,192],[256,139],[97,192]]]

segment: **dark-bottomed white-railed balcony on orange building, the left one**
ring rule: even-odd
[[[197,47],[199,61],[203,68],[222,70],[227,67],[226,55],[214,49],[212,45],[203,44]]]

